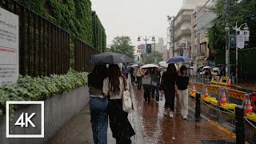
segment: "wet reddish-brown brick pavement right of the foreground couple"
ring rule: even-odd
[[[177,115],[174,118],[164,116],[164,98],[159,104],[153,100],[145,103],[142,90],[136,90],[134,86],[133,89],[145,143],[182,144],[202,143],[202,140],[234,140],[225,130],[206,120],[194,122],[192,111],[187,121]]]

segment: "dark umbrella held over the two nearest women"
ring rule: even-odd
[[[126,54],[118,54],[106,52],[102,54],[96,54],[92,56],[87,62],[88,65],[106,63],[106,64],[118,64],[118,63],[130,63],[132,59],[129,58]]]

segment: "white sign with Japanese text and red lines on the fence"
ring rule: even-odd
[[[18,80],[18,15],[0,7],[0,86]]]

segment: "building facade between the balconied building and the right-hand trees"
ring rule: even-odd
[[[209,66],[213,59],[210,54],[213,52],[210,49],[208,31],[211,26],[210,22],[216,18],[211,6],[197,6],[191,15],[191,58],[194,63],[194,69],[200,66]]]

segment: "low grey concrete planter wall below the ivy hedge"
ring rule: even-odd
[[[78,114],[84,106],[89,102],[89,92],[87,86],[82,86],[67,92],[66,94],[55,95],[51,98],[45,100],[45,135],[44,138],[6,138],[6,115],[0,116],[0,143],[2,144],[32,144],[32,143],[45,143],[60,129],[65,122],[70,120],[75,114]],[[39,108],[38,108],[39,107]],[[30,105],[22,109],[16,110],[14,114],[14,121],[17,121],[20,114],[23,111],[31,113],[41,114],[40,106]],[[41,118],[41,117],[40,117]],[[36,126],[40,126],[40,120],[34,118],[33,122]],[[14,125],[15,122],[10,122],[10,125]],[[16,128],[17,127],[17,128]],[[38,128],[38,127],[37,127]],[[27,134],[27,132],[32,132],[32,134],[40,134],[33,129],[32,126],[24,129],[20,126],[15,126],[14,129],[10,131],[10,134]]]

